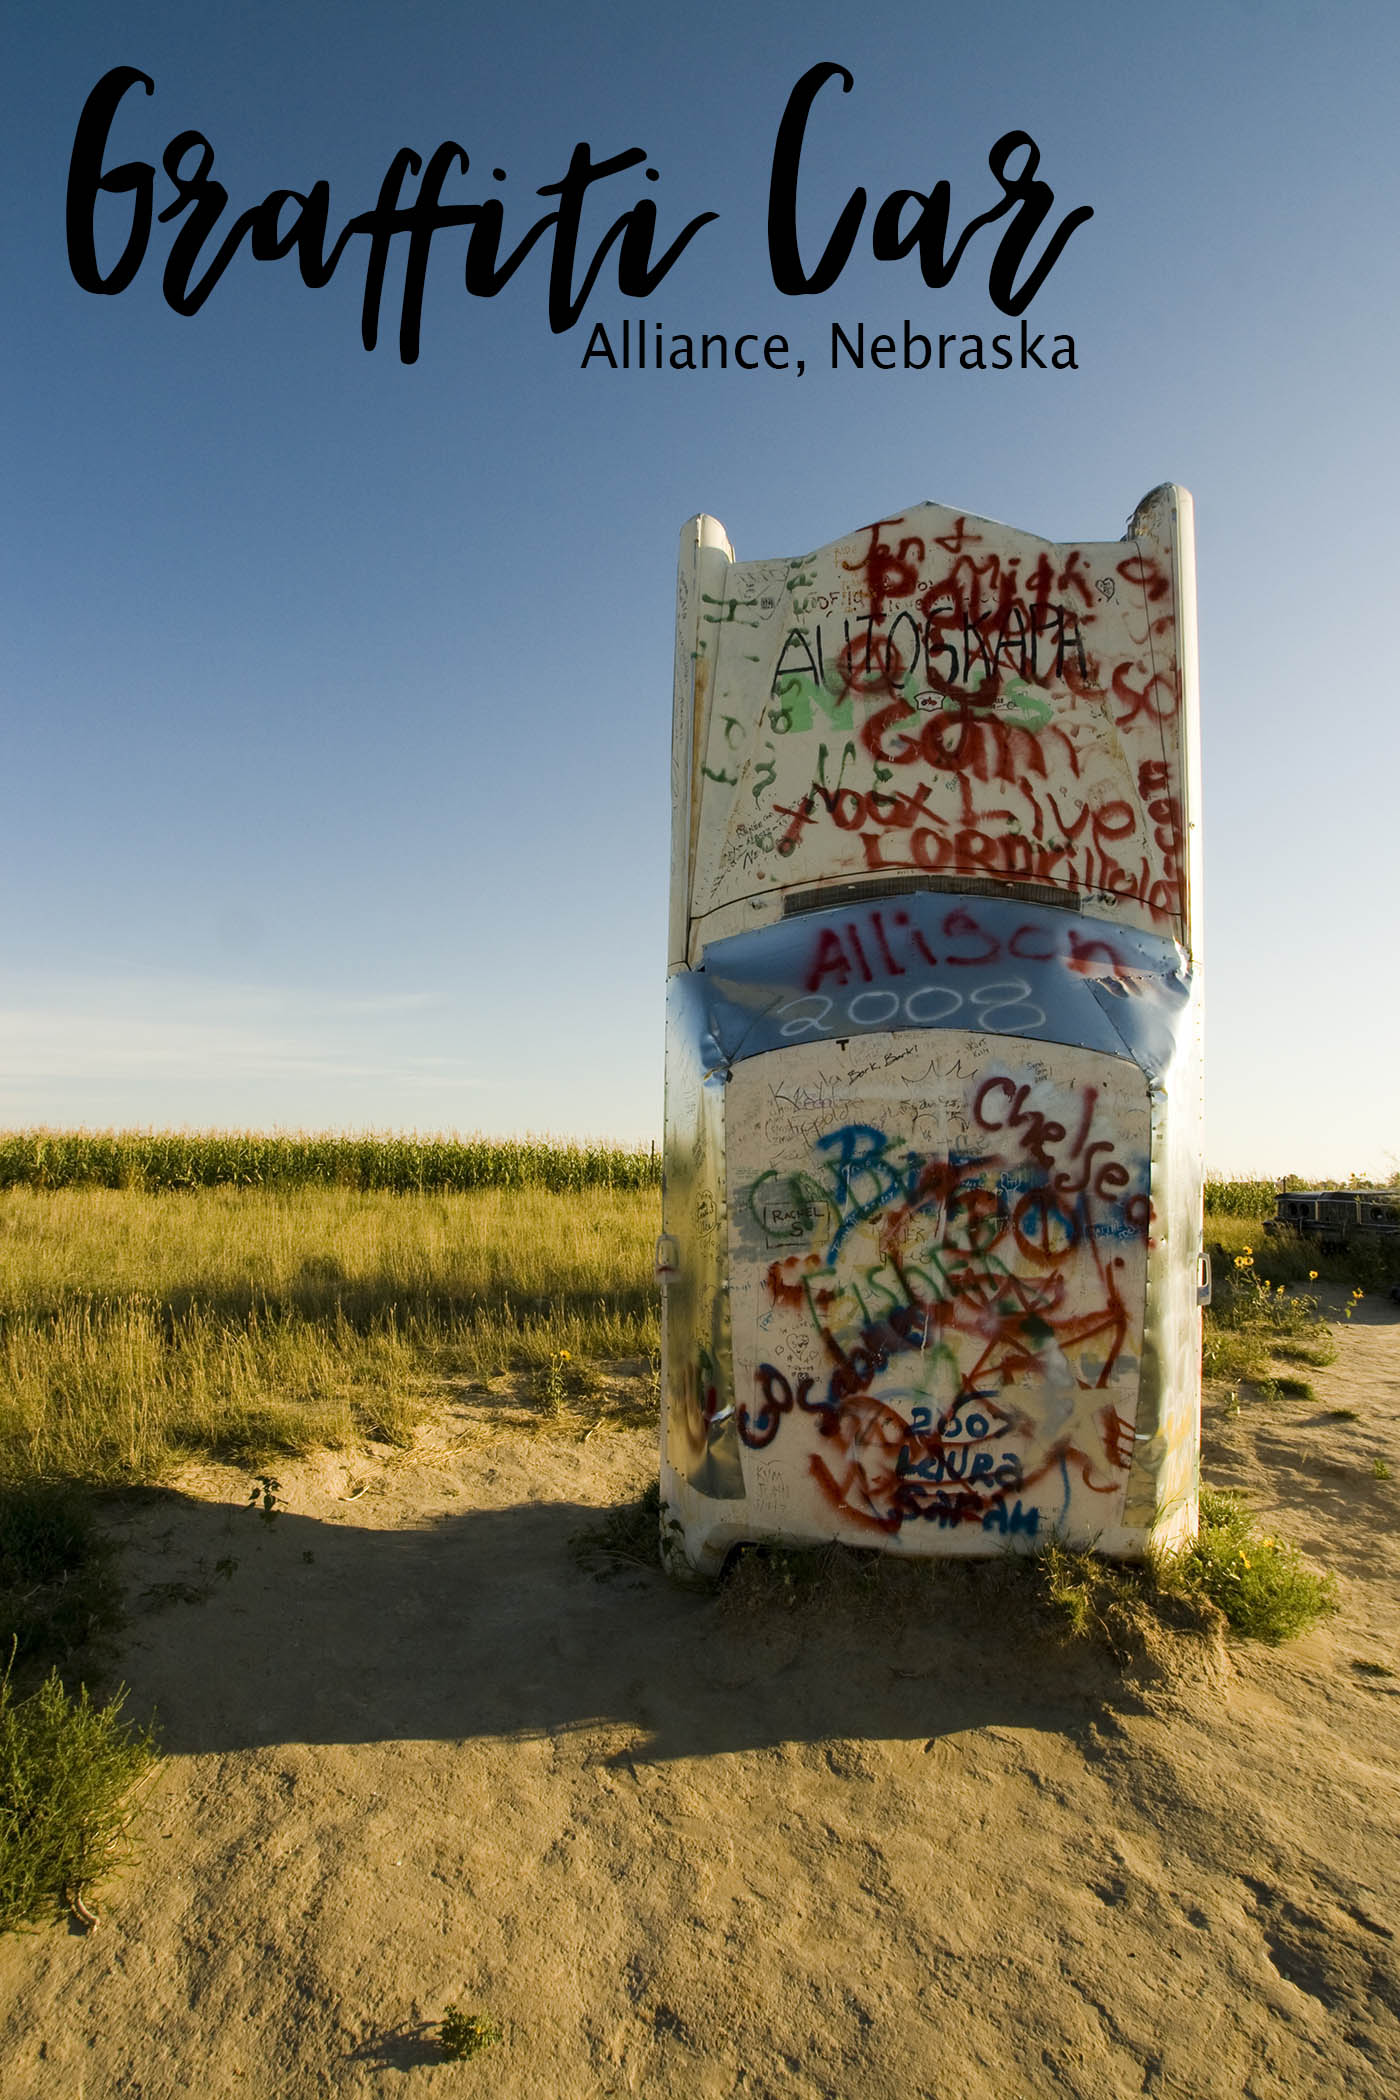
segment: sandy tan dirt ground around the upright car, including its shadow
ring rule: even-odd
[[[1400,2092],[1400,1308],[1337,1338],[1316,1401],[1213,1394],[1205,1468],[1341,1613],[1127,1680],[955,1598],[596,1579],[571,1535],[651,1436],[500,1394],[277,1466],[271,1522],[218,1468],[122,1506],[120,1670],[166,1758],[101,1924],[0,1942],[0,2085]],[[443,2062],[449,2003],[504,2041]]]

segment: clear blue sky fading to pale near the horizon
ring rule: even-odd
[[[13,6],[0,193],[10,1124],[420,1128],[649,1138],[661,1115],[676,536],[741,559],[936,500],[1115,538],[1196,498],[1207,869],[1207,1155],[1232,1172],[1400,1166],[1396,605],[1400,23],[1360,4],[938,8]],[[802,164],[837,284],[777,292],[772,141],[840,61]],[[422,353],[359,338],[363,239],[323,290],[246,252],[193,317],[155,225],[120,296],[67,265],[78,116],[113,65],[109,164],[199,130],[231,204],[330,181],[332,233],[395,151],[470,153],[506,239],[577,141],[642,147],[644,302],[604,267],[548,323],[542,246],[491,300],[460,233]],[[928,290],[875,262],[888,191],[995,202],[1026,130],[1054,218],[1094,218],[1028,309],[1077,372],[831,372],[831,321],[984,332],[997,229]],[[495,183],[493,168],[506,170]],[[411,193],[411,191],[409,191]],[[155,176],[155,208],[170,202]],[[130,197],[105,200],[111,260]],[[124,220],[126,214],[126,220]],[[218,237],[218,235],[216,235]],[[401,248],[403,244],[399,244]],[[584,242],[588,248],[590,242]],[[594,321],[781,332],[796,372],[581,370]]]

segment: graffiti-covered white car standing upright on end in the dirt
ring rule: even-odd
[[[1194,1533],[1190,498],[1052,544],[921,504],[682,536],[672,1550]]]

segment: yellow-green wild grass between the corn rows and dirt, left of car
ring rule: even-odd
[[[443,1378],[659,1346],[653,1191],[0,1193],[0,1480],[403,1441]]]

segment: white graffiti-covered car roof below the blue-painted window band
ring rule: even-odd
[[[1142,1073],[1052,1046],[858,1050],[793,1050],[781,1084],[756,1060],[730,1088],[745,1449],[854,1533],[1117,1522],[1152,1224]],[[749,1117],[756,1172],[735,1159]]]

